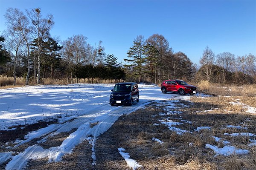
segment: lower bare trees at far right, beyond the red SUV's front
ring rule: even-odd
[[[235,57],[230,52],[215,55],[207,46],[200,59],[201,67],[196,78],[221,84],[256,83],[256,56],[249,54]]]

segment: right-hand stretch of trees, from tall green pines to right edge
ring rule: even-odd
[[[165,79],[186,81],[207,80],[221,84],[256,83],[256,56],[249,54],[235,57],[230,52],[215,55],[207,46],[200,58],[200,67],[183,52],[173,52],[163,35],[154,34],[144,40],[138,35],[125,58],[128,79],[150,81],[156,84]]]

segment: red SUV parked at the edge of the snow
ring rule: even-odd
[[[163,93],[166,92],[178,92],[180,95],[195,94],[196,86],[187,84],[182,80],[165,80],[161,83],[161,90]]]

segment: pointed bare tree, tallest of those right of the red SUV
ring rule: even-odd
[[[212,78],[212,67],[215,60],[214,52],[212,52],[212,49],[207,46],[204,49],[203,55],[200,59],[200,64],[202,65],[204,73],[207,75],[207,81],[211,81]]]

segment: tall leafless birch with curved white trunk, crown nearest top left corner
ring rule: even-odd
[[[26,43],[26,50],[27,50],[27,61],[28,61],[28,71],[26,75],[26,85],[29,84],[29,20],[28,18],[21,12],[19,9],[15,8],[8,8],[6,10],[6,14],[4,15],[6,18],[6,23],[8,26],[8,29],[13,29],[17,34],[22,35],[23,40]]]

